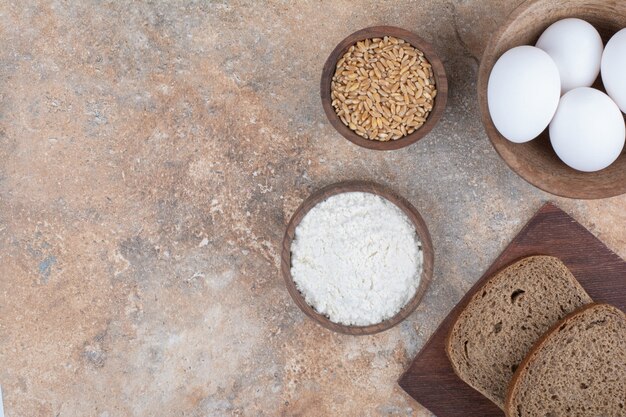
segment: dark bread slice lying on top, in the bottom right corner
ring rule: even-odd
[[[546,333],[509,386],[507,417],[625,417],[626,315],[585,306]]]

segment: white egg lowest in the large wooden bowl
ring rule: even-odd
[[[556,154],[579,171],[599,171],[611,165],[624,148],[626,125],[613,100],[602,91],[576,88],[561,97],[550,123]]]

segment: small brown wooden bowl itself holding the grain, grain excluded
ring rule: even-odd
[[[332,106],[332,99],[330,98],[330,84],[333,75],[335,74],[337,61],[352,45],[364,39],[382,38],[385,36],[394,36],[398,39],[403,39],[424,53],[424,56],[432,65],[433,75],[435,77],[435,86],[437,88],[437,96],[435,97],[435,103],[432,111],[426,118],[426,122],[419,129],[400,139],[381,142],[378,140],[365,139],[357,135],[352,129],[342,123]],[[446,72],[443,68],[443,63],[435,53],[435,49],[430,43],[408,30],[400,29],[394,26],[375,26],[354,32],[337,45],[326,60],[326,64],[324,64],[324,69],[322,70],[322,80],[320,83],[320,94],[322,96],[322,106],[324,107],[326,117],[328,117],[330,124],[333,125],[333,127],[337,129],[337,131],[341,133],[344,138],[348,139],[355,145],[359,145],[364,148],[375,149],[378,151],[390,151],[393,149],[404,148],[405,146],[409,146],[412,143],[417,142],[426,136],[433,129],[433,127],[435,127],[446,108],[446,101],[448,99],[448,80],[446,78]]]

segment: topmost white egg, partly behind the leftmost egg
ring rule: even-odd
[[[600,73],[602,38],[590,23],[568,18],[551,24],[536,44],[559,68],[561,94],[591,86]]]

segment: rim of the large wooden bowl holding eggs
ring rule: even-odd
[[[531,178],[526,172],[521,172],[515,166],[515,161],[509,158],[503,149],[502,142],[506,141],[506,139],[497,131],[493,120],[491,119],[491,115],[489,114],[488,107],[488,98],[487,98],[487,84],[489,81],[489,75],[491,74],[491,70],[493,65],[490,68],[487,68],[486,61],[488,59],[495,59],[495,49],[496,45],[502,38],[502,36],[510,29],[511,25],[524,13],[528,12],[532,7],[536,6],[541,0],[526,0],[517,5],[511,13],[507,16],[506,20],[498,27],[498,29],[490,36],[489,41],[487,42],[485,49],[481,55],[480,65],[478,68],[478,77],[476,81],[476,94],[478,96],[478,107],[480,111],[480,118],[483,125],[483,129],[487,134],[487,138],[489,138],[489,142],[496,150],[498,156],[505,162],[505,164],[509,167],[511,171],[513,171],[517,176],[521,177],[528,184],[536,187],[546,193],[555,195],[557,197],[570,198],[570,199],[580,199],[580,200],[597,200],[604,198],[617,197],[624,193],[626,193],[626,184],[619,189],[615,187],[614,189],[606,190],[585,190],[580,191],[574,188],[568,187],[558,187],[547,184],[540,180]],[[494,61],[494,65],[495,65]],[[600,77],[600,76],[598,76]],[[625,116],[626,118],[626,116]],[[521,144],[523,145],[523,144]],[[626,150],[626,148],[625,148]],[[601,171],[598,171],[601,172]]]

